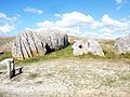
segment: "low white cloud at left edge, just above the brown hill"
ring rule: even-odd
[[[11,25],[8,25],[8,24],[6,25],[2,25],[2,26],[0,26],[0,34],[10,32],[10,31],[12,31],[14,29],[15,29],[14,26],[11,26]]]

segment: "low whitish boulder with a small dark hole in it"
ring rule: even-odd
[[[104,56],[102,47],[93,39],[88,39],[86,41],[83,40],[76,41],[72,47],[74,48],[74,55],[76,56],[83,55],[87,53],[92,53],[93,55]]]

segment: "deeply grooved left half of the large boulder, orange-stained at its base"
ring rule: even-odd
[[[20,33],[12,46],[12,56],[20,60],[31,58],[37,55],[44,55],[46,53],[46,43],[31,31]]]

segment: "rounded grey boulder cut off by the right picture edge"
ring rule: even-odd
[[[130,34],[120,37],[116,40],[115,52],[117,54],[130,52]]]

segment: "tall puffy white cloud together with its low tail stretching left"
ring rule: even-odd
[[[65,13],[62,15],[55,14],[55,16],[58,16],[61,19],[57,22],[49,22],[44,20],[42,23],[38,23],[37,25],[40,27],[79,27],[83,25],[93,24],[94,19],[90,15],[84,15],[79,12],[72,12],[72,13]]]

